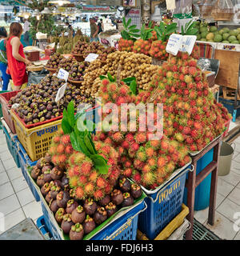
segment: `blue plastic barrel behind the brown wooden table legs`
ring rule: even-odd
[[[198,175],[207,165],[214,159],[214,149],[209,150],[197,162],[196,174]],[[195,189],[194,210],[204,210],[210,203],[210,185],[212,174],[208,174],[206,178]],[[186,177],[187,178],[187,177]],[[183,202],[187,202],[187,189],[184,190]]]

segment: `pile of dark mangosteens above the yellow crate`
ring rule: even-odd
[[[64,97],[55,102],[58,89],[65,83],[65,80],[47,74],[40,84],[26,87],[10,98],[8,103],[9,105],[18,103],[18,107],[14,108],[14,110],[26,125],[44,122],[61,116],[64,108],[67,107],[71,100],[74,101],[76,111],[81,103],[94,104],[92,98],[87,98],[80,89],[70,83],[67,83]]]

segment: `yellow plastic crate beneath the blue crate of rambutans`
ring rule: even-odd
[[[154,240],[166,240],[170,237],[171,234],[174,233],[175,230],[178,229],[179,226],[182,225],[184,218],[189,214],[189,208],[182,204],[182,211],[178,214],[159,234]],[[142,234],[140,230],[137,233],[138,240],[149,240],[145,234]]]

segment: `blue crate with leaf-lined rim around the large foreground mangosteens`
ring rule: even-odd
[[[30,170],[27,171],[27,175],[30,178],[30,180],[32,181],[32,183],[34,184],[35,190],[38,191],[39,198],[42,203],[42,212],[48,222],[48,223],[46,223],[46,224],[48,224],[46,226],[48,227],[49,230],[52,230],[52,232],[51,232],[52,236],[58,240],[69,240],[70,239],[69,236],[62,232],[61,227],[58,225],[58,222],[54,218],[53,212],[50,210],[50,207],[48,206],[45,198],[42,196],[40,188],[38,187],[38,185],[36,184],[34,179],[31,177]],[[143,212],[144,210],[146,210],[146,203],[144,202],[145,198],[146,198],[146,194],[144,193],[144,191],[142,191],[142,196],[140,198],[136,199],[132,206],[122,207],[115,214],[113,214],[110,218],[107,218],[105,222],[103,222],[101,225],[97,226],[92,232],[90,232],[90,234],[86,234],[86,236],[84,236],[83,240],[90,240],[92,238],[93,238],[93,240],[111,239],[111,238],[113,238],[113,235],[116,237],[117,235],[115,234],[115,231],[118,231],[118,229],[122,227],[122,226],[119,226],[120,223],[125,225],[126,222],[128,222],[128,226],[130,226],[130,222],[133,221],[134,218],[137,218],[138,214],[140,214],[140,212]],[[137,213],[135,213],[134,210],[137,210]],[[114,223],[115,223],[115,225],[114,225]],[[110,228],[112,226],[114,226],[114,232],[113,232],[113,230],[111,230],[111,231],[108,230],[108,227]],[[117,229],[116,229],[116,227],[117,227]],[[138,227],[138,219],[135,222],[134,239],[137,236],[137,227]]]

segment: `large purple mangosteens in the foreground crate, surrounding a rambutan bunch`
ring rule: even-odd
[[[142,195],[138,184],[131,184],[126,177],[120,175],[114,190],[102,200],[79,200],[70,188],[66,170],[54,166],[49,154],[38,160],[31,170],[31,177],[40,187],[58,225],[64,234],[69,234],[70,240],[82,240],[84,235],[90,234],[122,207],[133,205],[134,200]]]

